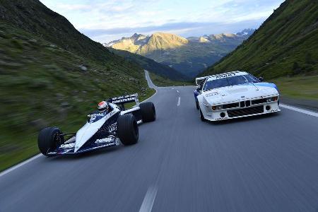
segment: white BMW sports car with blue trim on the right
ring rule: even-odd
[[[279,112],[278,88],[244,71],[196,78],[196,107],[202,121]]]

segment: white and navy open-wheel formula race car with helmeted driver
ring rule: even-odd
[[[136,102],[125,110],[124,104]],[[98,104],[98,111],[88,115],[86,124],[76,133],[63,133],[57,127],[40,131],[37,144],[43,155],[76,154],[98,148],[137,143],[138,124],[155,121],[153,102],[139,104],[138,94],[110,98]]]

